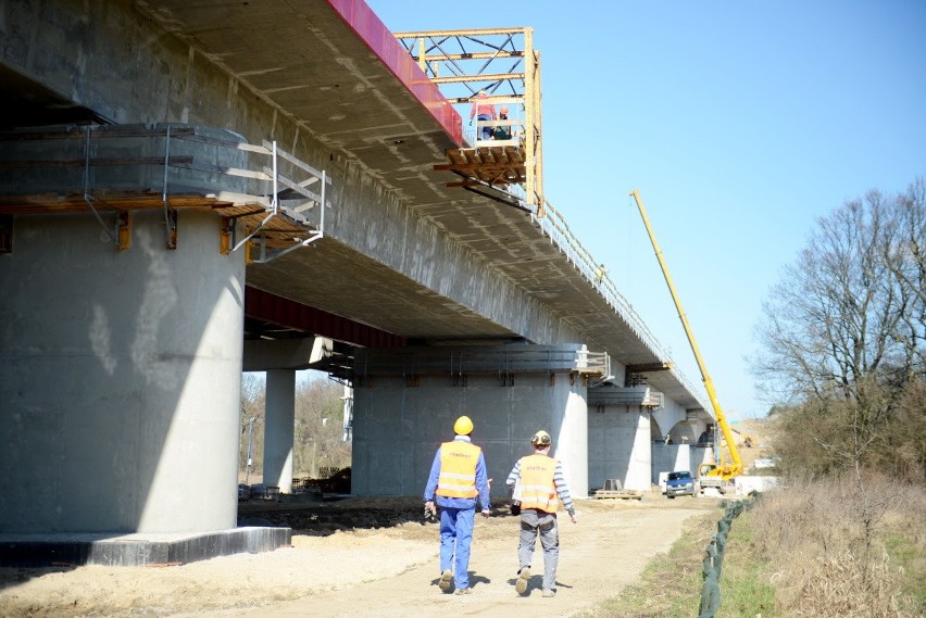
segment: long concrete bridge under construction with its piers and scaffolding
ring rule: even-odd
[[[352,388],[358,494],[418,494],[463,413],[495,478],[547,428],[578,496],[703,458],[699,390],[545,196],[530,28],[392,34],[361,0],[8,9],[4,564],[285,542],[236,527],[245,370],[284,492],[305,368]]]

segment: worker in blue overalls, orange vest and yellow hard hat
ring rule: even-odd
[[[473,421],[461,416],[453,424],[456,437],[437,450],[425,487],[425,508],[437,515],[440,507],[440,579],[449,593],[470,594],[470,545],[476,519],[476,496],[483,516],[491,514],[489,481],[483,450],[473,444]],[[435,504],[436,503],[436,504]]]

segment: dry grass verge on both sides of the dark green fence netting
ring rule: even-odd
[[[638,583],[581,616],[693,616],[719,515],[692,519]],[[725,556],[717,618],[926,616],[926,488],[791,480],[734,521]]]

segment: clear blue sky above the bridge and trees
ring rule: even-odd
[[[393,31],[534,28],[548,200],[698,384],[640,191],[733,420],[768,409],[746,357],[815,219],[926,176],[926,1],[367,4]]]

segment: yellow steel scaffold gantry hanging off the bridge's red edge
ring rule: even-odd
[[[542,217],[540,52],[534,49],[533,28],[425,30],[395,36],[464,118],[472,117],[477,99],[483,104],[513,110],[506,119],[477,121],[466,144],[447,150],[448,162],[435,165],[435,169],[461,177],[447,186],[462,187]],[[484,98],[480,92],[485,92]],[[504,134],[496,139],[499,129]]]

